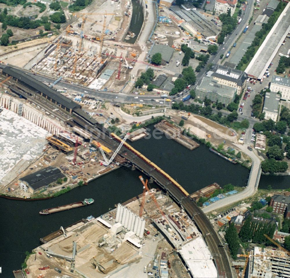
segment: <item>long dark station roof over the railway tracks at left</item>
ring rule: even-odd
[[[68,109],[76,109],[81,108],[81,106],[69,98],[65,97],[64,95],[61,95],[59,92],[50,89],[48,86],[43,84],[42,82],[37,81],[35,78],[23,73],[22,71],[19,71],[17,69],[14,69],[12,67],[5,67],[3,69],[3,73],[7,73],[10,76],[13,76],[14,78],[17,78],[24,82],[25,84],[31,86],[35,90],[44,93],[49,98],[52,98],[59,104],[63,105],[64,107]]]

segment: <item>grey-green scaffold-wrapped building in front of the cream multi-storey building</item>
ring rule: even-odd
[[[202,78],[200,85],[196,86],[195,95],[201,100],[207,97],[212,102],[218,101],[226,106],[235,99],[236,91],[236,88],[219,84],[211,73],[208,73]]]

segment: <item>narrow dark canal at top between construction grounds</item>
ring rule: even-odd
[[[143,20],[144,20],[144,13],[143,13],[142,5],[140,5],[137,0],[132,0],[132,6],[133,6],[133,12],[132,12],[131,23],[130,23],[130,27],[128,31],[134,33],[135,37],[130,38],[129,40],[124,40],[126,43],[135,43],[140,33]]]

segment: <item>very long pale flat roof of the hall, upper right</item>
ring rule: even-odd
[[[261,79],[267,67],[276,56],[284,38],[290,31],[290,2],[280,14],[264,42],[249,63],[245,72],[250,77]]]

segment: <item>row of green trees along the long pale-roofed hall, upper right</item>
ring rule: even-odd
[[[286,6],[285,2],[279,2],[275,12],[269,17],[267,23],[262,24],[262,29],[255,34],[255,38],[252,44],[248,47],[246,53],[244,54],[242,60],[237,65],[237,69],[241,69],[243,65],[247,65],[249,61],[252,60],[256,51],[258,50],[260,44],[264,40],[265,36],[269,33],[275,22],[277,21],[278,17],[280,16],[281,12],[284,10]],[[277,69],[278,72],[278,69]]]

